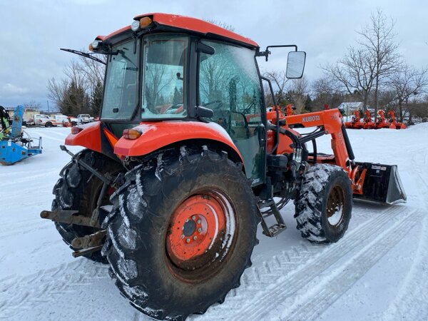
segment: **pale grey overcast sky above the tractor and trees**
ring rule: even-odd
[[[0,0],[0,105],[34,100],[47,109],[46,83],[63,77],[63,68],[75,58],[59,48],[87,48],[96,36],[151,12],[222,21],[262,48],[297,44],[307,52],[305,75],[312,81],[322,76],[321,64],[337,61],[355,44],[355,31],[378,7],[396,21],[399,51],[407,63],[428,66],[426,0]],[[260,67],[284,68],[285,60],[285,53],[277,50]],[[54,106],[53,101],[49,104]]]

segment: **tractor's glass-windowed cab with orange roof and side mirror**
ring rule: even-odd
[[[287,76],[300,78],[305,53],[292,47]],[[89,49],[107,57],[101,122],[116,138],[139,123],[217,126],[238,148],[248,178],[263,183],[266,106],[256,57],[267,59],[269,47],[260,51],[254,41],[199,19],[148,14],[96,37]],[[187,128],[171,134],[178,141]]]

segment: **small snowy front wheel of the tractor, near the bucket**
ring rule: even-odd
[[[313,243],[334,243],[347,230],[352,213],[351,180],[336,165],[313,165],[295,200],[297,230]]]

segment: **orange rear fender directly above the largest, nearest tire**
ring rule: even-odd
[[[220,142],[229,146],[243,158],[232,138],[223,127],[217,123],[202,123],[199,121],[161,121],[158,123],[141,123],[134,127],[141,131],[141,136],[135,140],[122,137],[114,146],[114,153],[123,156],[144,156],[165,146],[180,141],[205,140]]]

